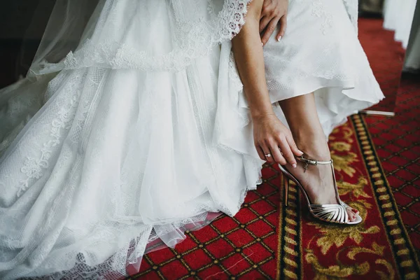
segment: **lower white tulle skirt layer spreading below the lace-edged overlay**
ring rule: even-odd
[[[261,162],[214,141],[214,62],[60,72],[1,161],[1,242],[15,250],[0,268],[43,275],[71,269],[78,253],[93,266],[121,250],[135,262],[208,212],[236,214]]]

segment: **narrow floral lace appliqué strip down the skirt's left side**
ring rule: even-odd
[[[20,171],[27,175],[27,179],[20,181],[21,185],[17,193],[18,197],[20,197],[20,195],[29,188],[29,181],[41,178],[41,176],[43,176],[43,169],[47,169],[49,167],[48,160],[50,159],[52,148],[60,143],[59,139],[62,130],[68,130],[70,128],[69,122],[73,119],[71,118],[72,116],[70,112],[73,107],[77,106],[79,94],[80,91],[73,94],[69,104],[62,107],[62,109],[57,113],[57,118],[52,120],[50,135],[53,138],[43,144],[41,156],[38,159],[32,157],[26,158]]]

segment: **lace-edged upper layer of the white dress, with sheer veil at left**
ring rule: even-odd
[[[86,2],[56,4],[31,74],[88,66],[179,71],[239,32],[249,0],[101,0],[84,25],[92,13]],[[155,41],[166,44],[158,47]]]

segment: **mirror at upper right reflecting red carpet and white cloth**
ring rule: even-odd
[[[359,1],[360,43],[386,97],[365,113],[393,116],[415,8],[416,0]]]

